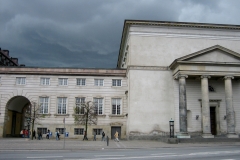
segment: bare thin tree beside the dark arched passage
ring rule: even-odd
[[[31,102],[29,108],[27,108],[25,113],[25,118],[27,119],[28,123],[31,124],[31,133],[33,133],[34,125],[38,122],[40,118],[44,118],[44,114],[39,114],[41,110],[41,106],[37,106],[36,102]],[[29,125],[30,125],[29,124]],[[33,134],[31,134],[31,138],[33,140]]]

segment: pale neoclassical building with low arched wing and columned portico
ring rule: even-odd
[[[98,124],[88,133],[119,130],[121,138],[240,134],[240,26],[126,20],[117,69],[0,68],[0,133],[26,126],[30,102],[44,105],[36,129],[82,138],[73,106],[93,101]]]

